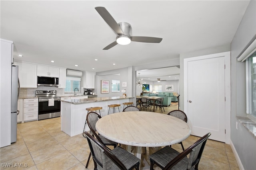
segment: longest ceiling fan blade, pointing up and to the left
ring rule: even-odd
[[[117,22],[114,20],[114,18],[109,14],[109,12],[104,7],[96,7],[95,10],[100,14],[100,16],[103,18],[103,20],[106,21],[106,23],[113,29],[113,31],[117,35],[124,35],[124,32],[120,28],[120,26],[117,24]]]

